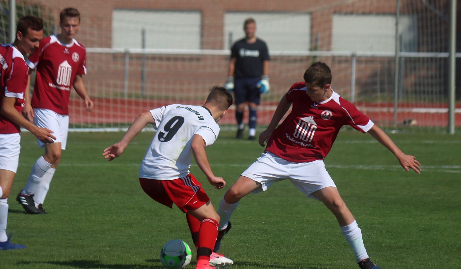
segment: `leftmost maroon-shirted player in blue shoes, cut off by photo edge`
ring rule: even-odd
[[[11,243],[11,235],[6,236],[8,196],[18,170],[21,148],[20,126],[44,143],[55,139],[51,130],[37,127],[21,115],[29,80],[29,67],[24,55],[38,48],[43,37],[43,22],[41,18],[25,16],[19,19],[16,29],[13,44],[0,46],[0,250],[25,248],[24,245]]]

